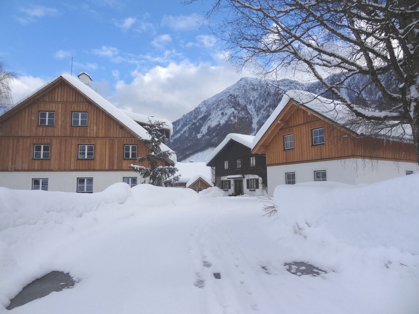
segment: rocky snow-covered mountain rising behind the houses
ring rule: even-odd
[[[333,77],[328,79],[332,80]],[[349,86],[362,84],[366,77],[353,77]],[[216,147],[228,133],[254,135],[276,108],[288,90],[307,90],[321,94],[319,82],[294,80],[260,80],[243,77],[222,92],[208,98],[194,110],[173,122],[173,136],[168,145],[177,152],[178,160],[204,161],[205,156]],[[347,94],[349,99],[354,95]],[[364,93],[363,93],[364,94]],[[376,90],[365,90],[367,103],[376,99]],[[323,97],[329,98],[325,93]],[[358,99],[359,100],[359,99]]]

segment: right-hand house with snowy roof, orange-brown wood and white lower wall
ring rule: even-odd
[[[418,171],[409,126],[372,134],[376,129],[365,121],[353,124],[353,118],[344,104],[287,92],[251,150],[266,156],[268,194],[280,184],[372,183]]]

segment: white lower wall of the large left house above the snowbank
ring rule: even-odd
[[[141,176],[132,171],[54,171],[54,172],[0,172],[0,186],[18,190],[31,190],[32,179],[48,178],[49,191],[76,192],[77,178],[93,178],[93,192],[101,192],[109,185],[123,182],[124,177],[136,177],[137,184]]]

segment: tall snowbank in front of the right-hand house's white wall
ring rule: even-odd
[[[419,174],[370,185],[310,182],[277,186],[274,203],[288,226],[321,227],[357,247],[419,254],[418,191]]]

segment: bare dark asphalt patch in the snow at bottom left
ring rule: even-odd
[[[47,296],[53,291],[72,288],[75,283],[76,281],[73,280],[69,273],[54,270],[29,283],[17,296],[10,300],[10,304],[6,309],[11,310],[17,306]]]

